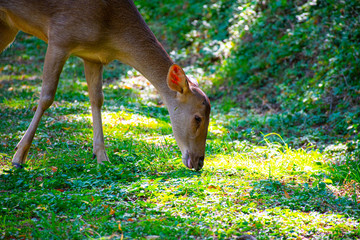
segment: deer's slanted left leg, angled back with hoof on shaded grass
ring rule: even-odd
[[[21,168],[21,164],[25,163],[26,156],[29,152],[41,117],[44,114],[45,110],[48,109],[54,102],[60,73],[67,58],[67,52],[49,43],[45,56],[43,82],[41,86],[38,107],[29,128],[27,129],[21,141],[16,146],[17,151],[12,160],[13,165],[16,167]]]

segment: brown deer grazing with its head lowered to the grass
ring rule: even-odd
[[[183,164],[204,166],[211,105],[199,85],[174,63],[132,0],[0,0],[0,53],[23,31],[47,43],[42,85],[33,119],[15,148],[22,168],[44,112],[52,105],[70,55],[84,63],[93,125],[93,156],[109,162],[101,119],[103,66],[113,60],[140,72],[160,94],[170,115]]]

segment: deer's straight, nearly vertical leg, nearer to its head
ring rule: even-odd
[[[101,121],[101,107],[104,103],[102,91],[102,71],[103,65],[84,61],[85,77],[89,88],[89,98],[91,103],[91,114],[93,119],[94,140],[93,153],[97,162],[102,163],[109,161],[105,151],[104,133]]]

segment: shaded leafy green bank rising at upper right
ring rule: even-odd
[[[321,126],[331,136],[357,135],[358,1],[250,6],[235,15],[236,30],[229,38],[234,47],[217,72],[224,79],[218,84],[227,86],[221,89],[237,105],[282,112],[290,125]],[[246,11],[253,17],[246,19]],[[305,118],[291,120],[298,114]]]

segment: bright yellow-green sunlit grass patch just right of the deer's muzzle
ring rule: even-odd
[[[209,156],[207,166],[215,169],[248,169],[269,177],[308,177],[326,169],[323,165],[325,155],[315,149],[292,149],[277,144],[244,149],[236,145],[230,153]]]

